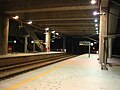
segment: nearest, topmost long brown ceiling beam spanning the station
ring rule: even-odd
[[[70,11],[70,10],[90,10],[90,9],[98,9],[97,5],[90,6],[69,6],[69,7],[52,7],[52,8],[32,8],[25,10],[8,10],[5,13],[13,14],[13,13],[36,13],[36,12],[55,12],[55,11]]]

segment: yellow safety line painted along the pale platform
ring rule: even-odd
[[[45,76],[45,75],[49,74],[50,72],[53,72],[53,71],[55,71],[55,70],[63,67],[64,65],[66,65],[66,64],[68,64],[68,63],[70,63],[70,61],[69,61],[69,62],[68,62],[68,61],[67,61],[67,62],[64,62],[64,63],[60,64],[59,66],[56,66],[56,67],[54,67],[54,68],[52,68],[52,69],[49,69],[49,70],[47,70],[47,71],[45,71],[45,72],[42,72],[42,73],[38,74],[37,76],[34,76],[34,77],[32,77],[32,78],[28,78],[28,79],[26,79],[26,80],[23,80],[23,81],[15,84],[15,85],[12,85],[12,86],[4,89],[4,90],[14,90],[14,89],[16,89],[16,88],[19,88],[20,86],[22,86],[22,85],[24,85],[24,84],[26,84],[26,83],[28,83],[28,82],[31,82],[31,81],[33,81],[33,80],[36,80],[36,79],[38,79],[38,78],[40,78],[40,77],[42,77],[42,76]]]

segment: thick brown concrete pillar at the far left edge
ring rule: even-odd
[[[0,55],[8,53],[9,18],[0,17]]]

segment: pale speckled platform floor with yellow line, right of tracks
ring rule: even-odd
[[[120,90],[120,66],[101,70],[87,54],[0,82],[0,90]]]

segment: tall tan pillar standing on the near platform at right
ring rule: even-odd
[[[105,13],[100,10],[100,13]],[[99,60],[101,65],[107,64],[107,25],[108,14],[100,15],[100,33],[99,33]]]

